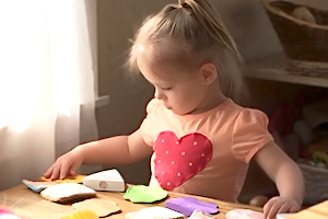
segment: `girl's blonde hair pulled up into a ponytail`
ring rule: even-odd
[[[178,0],[157,14],[149,16],[139,31],[130,50],[130,70],[138,70],[138,57],[143,50],[154,61],[200,67],[216,66],[222,92],[236,99],[243,89],[237,46],[219,14],[207,0]]]

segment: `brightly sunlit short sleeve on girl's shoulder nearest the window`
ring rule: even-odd
[[[153,139],[153,130],[155,125],[157,124],[157,107],[159,107],[159,101],[153,99],[151,100],[147,105],[147,116],[143,119],[143,122],[140,125],[140,131],[141,136],[144,140],[144,142],[149,146],[154,145]]]

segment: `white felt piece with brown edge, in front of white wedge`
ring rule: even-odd
[[[51,201],[66,203],[95,197],[96,192],[81,184],[63,183],[44,189],[40,196]]]

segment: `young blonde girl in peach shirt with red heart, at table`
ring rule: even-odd
[[[130,66],[155,88],[140,128],[74,148],[45,176],[74,175],[82,162],[126,164],[152,154],[150,186],[236,201],[255,159],[280,192],[265,216],[298,210],[297,165],[273,142],[267,116],[232,100],[242,88],[238,57],[206,0],[165,7],[143,23],[130,53]]]

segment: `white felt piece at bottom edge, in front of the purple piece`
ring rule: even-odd
[[[164,207],[150,207],[136,212],[128,212],[126,219],[184,219],[183,214]]]

